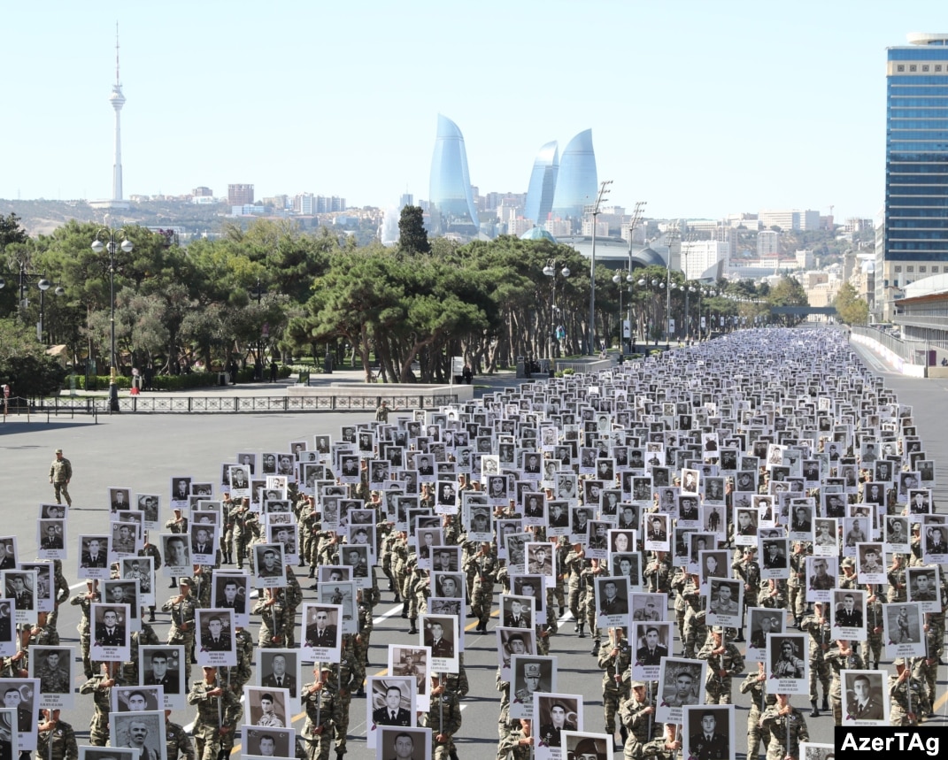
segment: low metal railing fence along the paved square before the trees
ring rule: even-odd
[[[9,407],[9,416],[46,414],[108,414],[108,398],[53,396],[20,399]],[[383,401],[390,408],[433,408],[456,404],[457,393],[402,393],[377,396],[122,396],[118,409],[130,414],[241,414],[263,412],[374,411]]]

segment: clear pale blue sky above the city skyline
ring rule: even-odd
[[[115,25],[130,193],[228,183],[428,197],[437,114],[481,192],[592,128],[610,201],[718,217],[883,203],[885,47],[928,0],[76,3],[4,9],[2,198],[111,194]]]

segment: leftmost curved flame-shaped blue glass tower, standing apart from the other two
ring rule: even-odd
[[[438,134],[431,157],[431,226],[435,234],[476,235],[480,224],[470,174],[465,137],[451,119],[438,114]]]

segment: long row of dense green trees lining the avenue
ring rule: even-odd
[[[15,218],[0,221],[7,223],[0,226],[4,276],[14,285],[0,290],[0,314],[37,323],[35,282],[45,275],[54,288],[44,299],[42,338],[64,345],[77,371],[90,359],[102,373],[109,365],[113,263],[118,365],[125,373],[132,367],[175,371],[198,362],[208,369],[246,366],[266,355],[339,359],[351,352],[367,374],[375,364],[389,381],[428,382],[447,379],[452,355],[488,372],[517,356],[546,356],[558,327],[563,337],[556,350],[574,354],[586,347],[588,260],[550,241],[428,241],[418,208],[404,209],[402,244],[395,248],[357,247],[325,228],[304,234],[290,222],[266,220],[246,231],[227,227],[220,239],[182,248],[170,236],[131,226],[115,230],[118,244],[127,238],[134,247],[127,253],[117,247],[114,262],[107,250],[91,247],[97,238],[108,242],[108,230],[100,226],[70,222],[29,239]],[[555,266],[555,278],[544,275],[548,264]],[[569,277],[559,274],[563,266]],[[21,269],[29,275],[24,301],[15,286]],[[623,316],[631,312],[638,337],[644,341],[650,332],[664,338],[665,291],[650,283],[665,280],[667,270],[638,269],[630,285],[616,285],[612,275],[605,267],[595,272],[596,335],[617,340],[621,287]],[[682,273],[671,278],[684,285]],[[639,286],[640,279],[648,284]],[[64,295],[50,295],[57,287]],[[721,281],[714,289],[714,297],[696,292],[689,299],[693,336],[702,315],[708,330],[720,329],[720,317],[729,327],[758,323],[775,298],[750,282]],[[684,326],[680,288],[670,301],[670,316]],[[678,333],[684,335],[684,328]]]

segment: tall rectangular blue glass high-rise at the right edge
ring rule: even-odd
[[[885,208],[875,311],[914,280],[948,272],[948,34],[909,34],[885,71]]]

